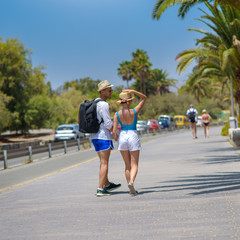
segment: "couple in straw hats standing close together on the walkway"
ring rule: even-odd
[[[113,149],[113,136],[115,141],[118,141],[118,150],[120,150],[125,162],[125,176],[129,187],[129,193],[134,196],[137,194],[134,188],[134,181],[138,171],[141,148],[140,139],[136,130],[137,115],[145,104],[147,97],[132,89],[123,90],[119,94],[118,101],[118,103],[122,105],[122,109],[115,113],[113,123],[110,117],[109,104],[106,102],[107,99],[111,98],[112,87],[113,85],[107,80],[98,84],[99,98],[104,101],[97,103],[97,118],[98,121],[101,122],[99,131],[91,134],[92,143],[100,159],[99,185],[96,195],[107,196],[110,195],[110,191],[121,187],[121,184],[115,184],[108,179],[108,164],[110,153]],[[130,108],[132,99],[134,99],[132,94],[141,98],[141,101],[134,109]],[[119,135],[117,132],[118,123],[121,125]]]

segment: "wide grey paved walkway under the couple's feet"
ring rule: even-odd
[[[220,130],[211,128],[209,139],[199,129],[195,140],[179,131],[145,142],[136,197],[118,151],[109,177],[122,187],[109,197],[94,195],[96,158],[8,189],[0,194],[0,239],[240,239],[240,155]]]

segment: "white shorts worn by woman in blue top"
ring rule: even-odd
[[[118,138],[118,150],[137,151],[141,149],[141,142],[137,130],[121,130]]]

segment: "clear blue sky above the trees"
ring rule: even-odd
[[[182,20],[177,7],[152,19],[156,0],[7,0],[1,2],[0,36],[18,38],[32,49],[34,66],[43,65],[57,89],[66,81],[90,77],[126,86],[117,74],[122,61],[143,49],[152,68],[166,70],[180,85],[190,68],[176,72],[176,55],[192,47],[204,28],[197,7]]]

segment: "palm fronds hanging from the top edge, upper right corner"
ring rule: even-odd
[[[208,2],[206,0],[157,0],[153,9],[153,18],[159,19],[162,13],[169,7],[180,4],[178,16],[184,18],[188,10],[199,3]],[[215,5],[222,4],[229,7],[234,7],[240,10],[240,0],[212,0]]]

